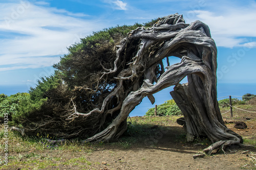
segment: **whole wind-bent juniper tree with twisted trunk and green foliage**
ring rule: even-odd
[[[30,114],[37,119],[24,124],[25,131],[109,141],[124,133],[127,116],[145,96],[153,104],[154,93],[176,85],[170,94],[184,114],[187,141],[208,136],[214,143],[208,153],[242,143],[219,110],[217,48],[208,26],[174,14],[136,27],[128,34],[130,27],[104,30],[69,47],[54,65],[62,81],[46,95],[48,112]],[[170,65],[171,56],[181,62]],[[179,84],[186,76],[188,83]]]

